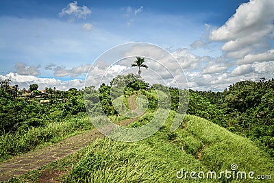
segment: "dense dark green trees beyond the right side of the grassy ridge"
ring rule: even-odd
[[[198,114],[199,116],[210,119],[231,132],[251,138],[274,156],[274,79],[238,82],[223,92],[191,93],[199,95],[203,102],[211,106],[211,109],[203,109],[210,110],[210,117]]]

